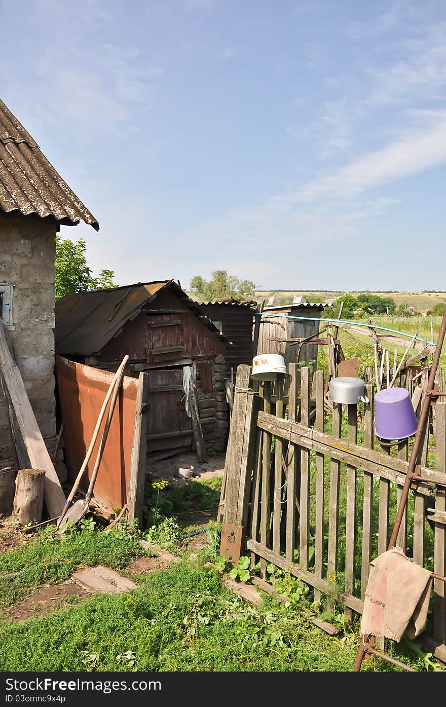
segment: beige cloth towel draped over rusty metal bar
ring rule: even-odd
[[[383,552],[370,562],[361,634],[394,641],[403,633],[418,636],[426,626],[431,585],[430,572],[409,560],[400,547]]]

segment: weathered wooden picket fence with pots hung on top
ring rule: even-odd
[[[291,363],[285,381],[250,380],[239,366],[221,499],[221,552],[251,553],[312,586],[315,599],[362,613],[369,563],[387,549],[408,467],[409,444],[392,453],[375,443],[370,404],[333,405],[324,414],[324,374]],[[271,390],[274,387],[274,390]],[[285,402],[284,402],[285,400]],[[287,404],[286,404],[287,403]],[[426,434],[421,475],[446,481],[446,402],[435,409],[436,438]],[[435,445],[435,449],[430,447]],[[430,515],[428,515],[430,513]],[[398,542],[413,561],[445,575],[445,487],[420,482],[409,496]],[[426,631],[446,660],[445,583],[433,582]]]

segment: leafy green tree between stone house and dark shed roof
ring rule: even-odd
[[[83,238],[79,238],[74,243],[69,238],[61,240],[60,234],[57,233],[54,264],[56,300],[74,292],[105,290],[117,286],[113,282],[115,277],[113,270],[103,269],[98,277],[93,277],[93,272],[87,263],[86,242]]]

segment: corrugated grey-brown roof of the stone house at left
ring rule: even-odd
[[[97,219],[42,154],[23,125],[0,100],[0,211],[56,218],[75,226]]]

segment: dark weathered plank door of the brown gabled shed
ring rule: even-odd
[[[192,446],[192,421],[184,410],[182,368],[147,371],[149,402],[147,453]]]

